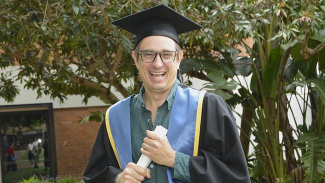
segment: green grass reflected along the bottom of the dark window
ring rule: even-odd
[[[28,178],[33,174],[36,175],[47,175],[49,170],[44,171],[44,167],[33,168],[33,167],[23,167],[18,168],[16,172],[5,172],[4,182],[6,183],[16,183],[22,180],[22,178]]]

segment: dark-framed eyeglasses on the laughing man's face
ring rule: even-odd
[[[155,50],[142,50],[142,51],[137,51],[137,54],[140,54],[141,60],[143,62],[152,62],[154,61],[155,57],[157,54],[159,54],[160,59],[163,62],[170,63],[175,60],[176,54],[178,51],[160,51],[157,52]]]

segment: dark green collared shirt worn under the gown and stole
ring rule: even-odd
[[[171,106],[179,83],[180,82],[176,79],[166,100],[157,108],[154,123],[152,123],[151,120],[151,111],[146,108],[142,98],[145,92],[144,87],[141,87],[139,94],[131,97],[131,147],[132,160],[134,163],[136,163],[141,156],[140,148],[142,147],[143,138],[146,137],[145,130],[148,129],[153,131],[157,125],[161,125],[168,129]],[[172,178],[183,182],[190,182],[188,160],[189,155],[176,151]],[[168,182],[166,166],[151,161],[148,168],[150,169],[151,178],[146,178],[143,182]]]

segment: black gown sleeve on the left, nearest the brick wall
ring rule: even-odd
[[[115,176],[120,172],[122,170],[109,142],[104,120],[99,127],[83,179],[85,183],[114,182]]]

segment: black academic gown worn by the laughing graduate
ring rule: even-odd
[[[84,180],[86,183],[114,182],[114,176],[121,171],[103,121],[83,174]],[[198,155],[190,156],[189,173],[191,182],[250,182],[231,109],[220,96],[212,93],[204,95]]]

